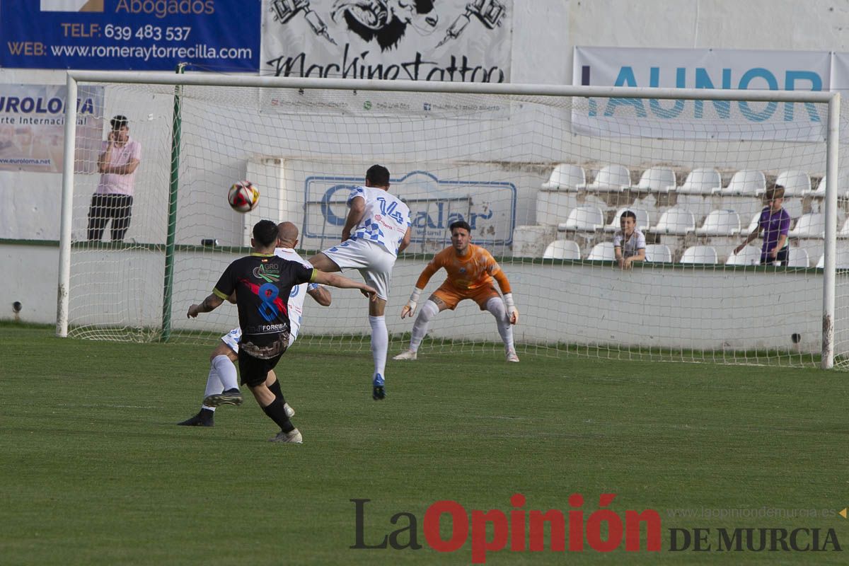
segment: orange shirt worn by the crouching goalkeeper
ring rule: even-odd
[[[469,244],[469,253],[460,257],[454,250],[453,246],[448,246],[441,252],[433,256],[430,263],[424,267],[424,271],[419,275],[419,280],[416,282],[418,289],[424,289],[430,277],[438,272],[440,267],[444,267],[448,272],[448,277],[443,285],[452,286],[458,291],[467,291],[478,289],[484,285],[492,285],[492,279],[498,281],[498,287],[502,293],[510,293],[510,283],[501,267],[498,266],[498,261],[492,257],[486,249]]]

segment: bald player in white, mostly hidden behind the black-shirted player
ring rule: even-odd
[[[295,246],[298,244],[298,227],[291,222],[282,222],[278,225],[278,241],[277,248],[274,249],[274,255],[282,257],[284,260],[298,261],[305,265],[309,265],[295,252]],[[315,283],[303,283],[295,285],[289,295],[289,345],[291,346],[298,337],[298,332],[301,329],[301,318],[303,317],[304,296],[309,294],[319,305],[330,305],[330,293],[327,289]],[[228,389],[238,389],[238,381],[236,374],[235,361],[238,360],[239,354],[239,339],[242,336],[241,328],[233,328],[230,332],[221,337],[222,343],[212,350],[210,356],[210,373],[206,378],[206,390],[204,400],[210,395],[219,395]],[[274,370],[268,372],[266,386],[271,389],[272,393],[280,397],[283,395],[280,384],[277,381],[277,375]],[[222,403],[227,404],[227,403]],[[206,405],[200,406],[200,412],[184,420],[182,423],[177,423],[182,426],[201,426],[211,427],[214,423],[215,407]],[[289,406],[289,403],[284,404],[284,409],[289,417],[295,415],[295,410]]]

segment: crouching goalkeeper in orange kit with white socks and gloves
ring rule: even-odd
[[[501,271],[495,258],[486,249],[469,243],[471,227],[465,221],[453,222],[451,230],[451,245],[433,256],[430,263],[416,281],[416,289],[410,295],[410,300],[401,311],[401,317],[412,317],[419,302],[419,295],[430,277],[444,267],[448,272],[445,283],[436,289],[430,298],[422,305],[416,322],[413,323],[413,336],[410,338],[410,348],[393,360],[415,360],[419,345],[427,333],[430,320],[436,313],[457,308],[464,299],[474,300],[481,311],[490,311],[498,324],[498,333],[504,343],[504,354],[507,361],[519,361],[513,345],[513,328],[510,326],[519,321],[519,311],[513,304],[513,294],[510,292],[510,282]],[[495,282],[504,294],[495,289]]]

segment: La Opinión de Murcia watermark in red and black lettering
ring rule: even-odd
[[[351,549],[458,552],[471,546],[471,562],[486,563],[489,552],[823,552],[841,551],[834,529],[818,527],[717,528],[675,527],[666,530],[654,509],[615,512],[608,508],[616,494],[599,496],[599,509],[582,510],[584,497],[569,496],[570,509],[526,509],[526,497],[510,497],[507,511],[467,510],[451,500],[434,502],[419,520],[413,513],[394,513],[380,532],[366,533],[370,499],[351,499],[355,541]],[[419,530],[419,524],[421,529]],[[448,526],[450,525],[450,530]],[[546,535],[548,533],[548,536]],[[445,535],[443,535],[445,534]]]

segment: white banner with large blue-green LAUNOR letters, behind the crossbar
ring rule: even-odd
[[[830,53],[576,47],[573,84],[828,91]],[[591,99],[572,118],[593,135],[799,142],[822,141],[826,122],[824,105],[626,98]]]

